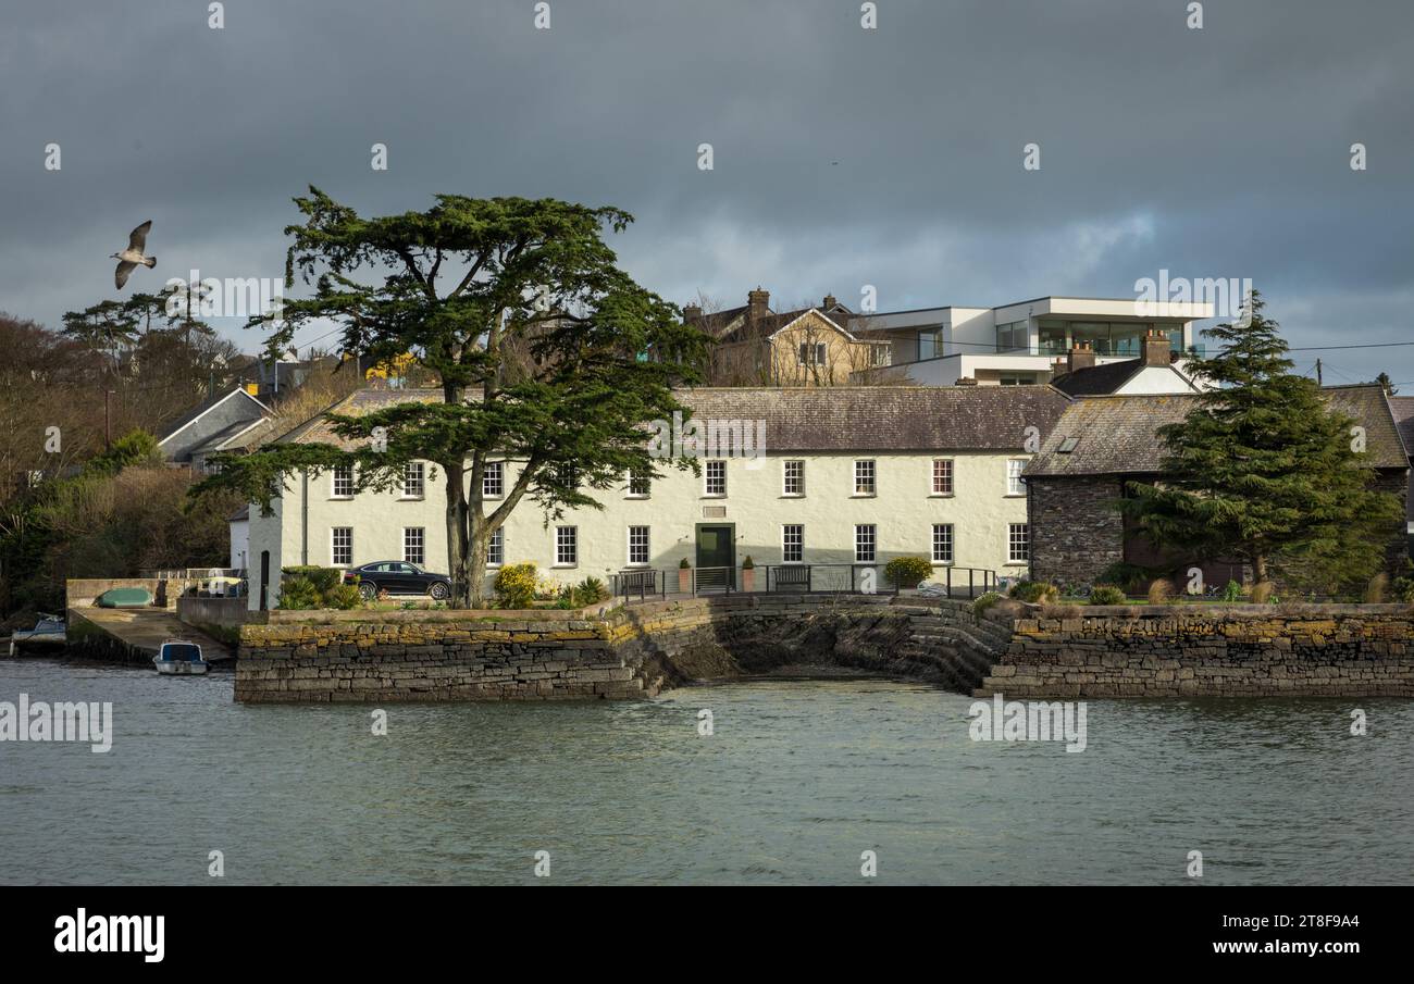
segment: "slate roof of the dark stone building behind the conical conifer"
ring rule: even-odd
[[[1379,386],[1329,386],[1321,390],[1333,410],[1366,428],[1372,468],[1408,468],[1394,414]],[[1066,475],[1154,474],[1164,458],[1157,431],[1175,424],[1198,406],[1196,393],[1171,396],[1086,396],[1070,403],[1041,445],[1027,478]],[[1060,444],[1076,437],[1069,454]]]

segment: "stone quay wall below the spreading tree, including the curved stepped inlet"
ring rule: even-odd
[[[580,612],[270,612],[240,628],[249,703],[629,698],[782,666],[970,691],[1010,631],[963,602],[727,595]]]

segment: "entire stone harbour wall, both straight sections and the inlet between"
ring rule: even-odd
[[[1053,615],[1053,616],[1049,616]],[[240,628],[236,700],[636,698],[797,667],[1007,697],[1414,696],[1408,605],[727,595],[577,612],[269,612]]]

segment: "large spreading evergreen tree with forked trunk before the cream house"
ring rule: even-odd
[[[632,216],[437,195],[423,212],[362,218],[312,187],[294,201],[305,222],[286,229],[286,281],[293,287],[298,270],[314,293],[287,300],[283,320],[250,320],[273,328],[270,351],[334,320],[345,353],[410,353],[440,379],[441,399],[334,416],[359,450],[273,445],[228,459],[202,491],[239,488],[269,509],[301,468],[352,462],[359,488],[386,489],[404,462],[431,461],[447,478],[452,598],[475,607],[491,537],[522,499],[549,513],[598,506],[590,489],[656,474],[643,426],[684,410],[672,387],[696,377],[707,339],[617,266],[604,236]],[[484,502],[486,465],[502,457],[522,471],[502,499]]]

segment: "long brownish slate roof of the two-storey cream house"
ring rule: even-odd
[[[1049,386],[699,387],[677,392],[696,420],[765,420],[766,451],[1021,451],[1069,400]],[[358,390],[331,410],[358,416],[441,390]],[[320,414],[281,443],[341,444]],[[354,443],[342,443],[352,448]]]

